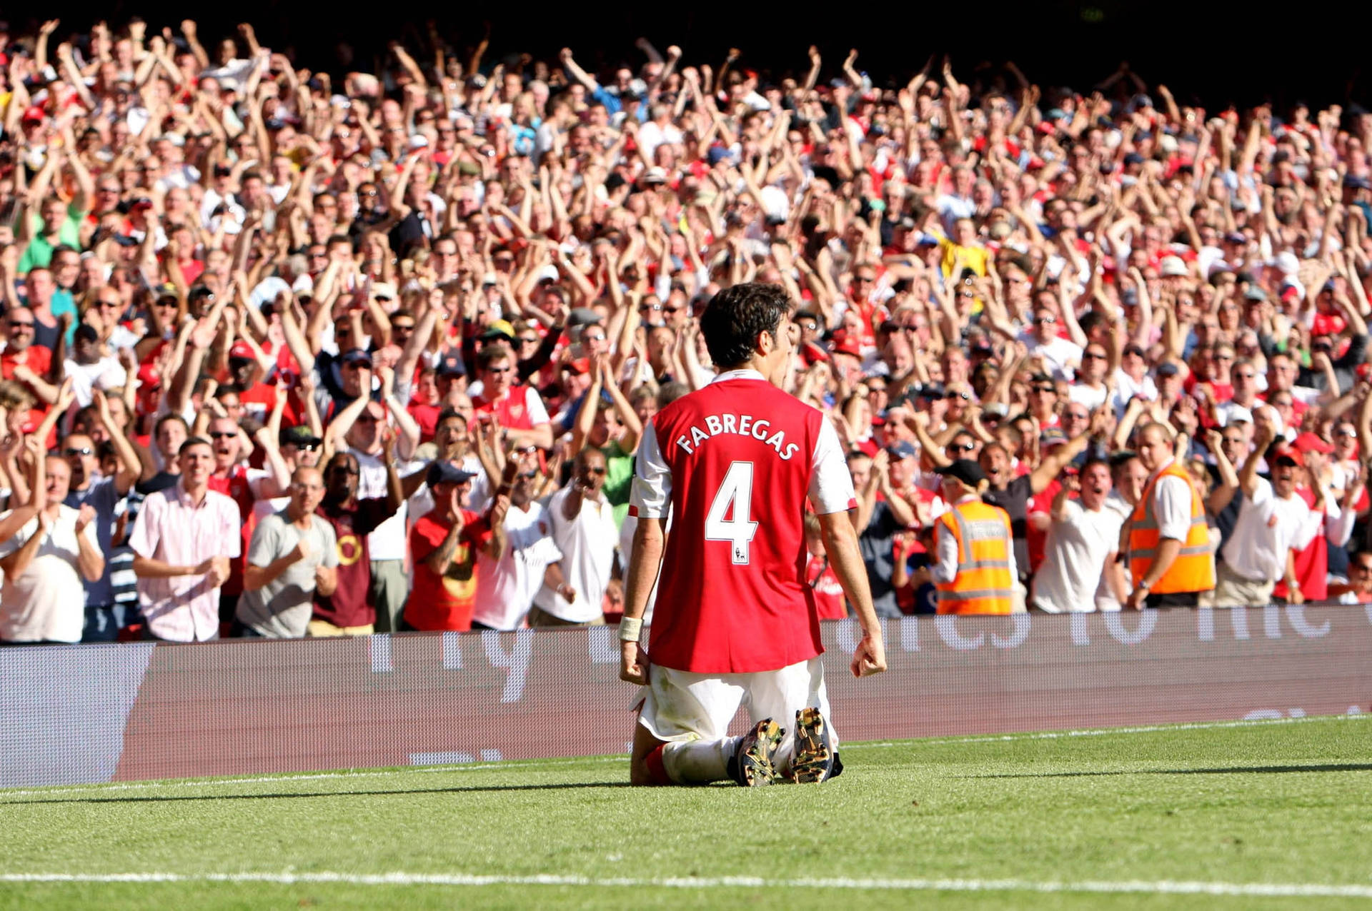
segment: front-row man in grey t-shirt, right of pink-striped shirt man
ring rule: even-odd
[[[233,634],[300,638],[314,611],[314,592],[332,595],[338,585],[333,526],[314,515],[324,499],[318,469],[291,475],[291,501],[252,530]]]

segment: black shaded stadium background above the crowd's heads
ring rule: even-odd
[[[191,15],[206,47],[251,18],[265,47],[292,52],[296,66],[340,73],[375,68],[386,42],[406,30],[412,52],[427,19],[456,48],[475,45],[483,19],[493,27],[486,64],[510,52],[553,59],[569,45],[591,68],[611,49],[638,64],[638,36],[659,48],[679,44],[687,62],[719,66],[730,45],[744,51],[742,66],[777,77],[804,71],[805,48],[825,55],[825,78],[837,74],[849,47],[860,49],[858,68],[895,79],[918,70],[930,53],[948,52],[954,73],[969,79],[981,62],[1013,59],[1030,81],[1070,85],[1078,92],[1128,60],[1150,86],[1166,82],[1180,103],[1195,96],[1209,108],[1269,100],[1284,110],[1303,99],[1312,105],[1367,99],[1369,4],[1287,3],[1126,3],[1124,0],[1043,0],[944,4],[766,4],[738,3],[435,3],[325,5],[266,0],[252,4],[193,4],[151,0],[113,4],[59,4],[49,15],[66,27],[85,29],[96,16],[118,27],[132,15],[154,29]],[[11,15],[11,34],[22,16]],[[59,30],[59,36],[63,30]],[[354,66],[339,66],[336,47],[354,48]],[[213,49],[211,49],[213,52]],[[620,58],[619,55],[624,55]],[[878,79],[878,84],[886,81]]]

